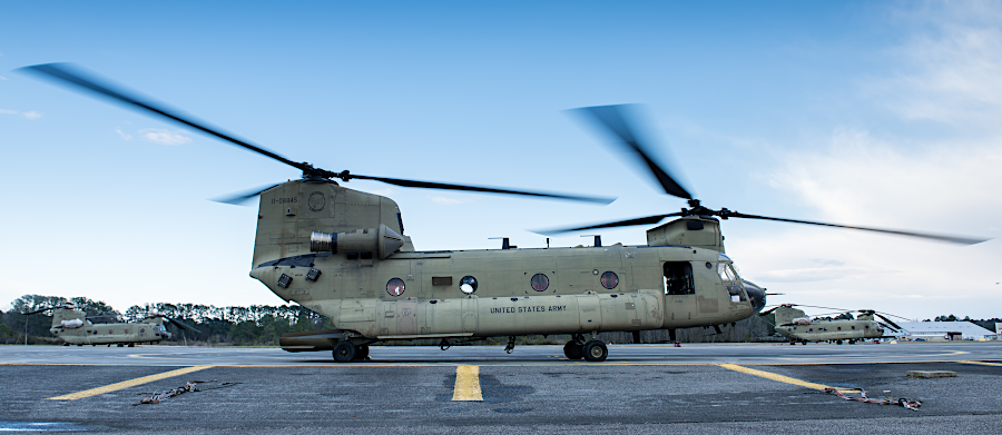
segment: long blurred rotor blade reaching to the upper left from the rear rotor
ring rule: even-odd
[[[143,99],[132,92],[126,91],[121,87],[111,85],[108,80],[101,80],[97,77],[94,77],[92,75],[87,75],[69,63],[36,65],[31,67],[20,68],[20,70],[38,75],[50,80],[55,80],[62,85],[70,85],[72,87],[76,87],[77,89],[96,92],[100,96],[131,106],[132,108],[141,109],[146,112],[158,115],[175,122],[179,122],[181,125],[198,129],[219,139],[234,144],[238,147],[243,147],[259,155],[271,157],[296,169],[304,171],[307,169],[307,166],[304,164],[292,161],[267,149],[224,134],[216,128],[207,127],[206,123],[195,121],[193,120],[193,118],[183,117],[178,115],[178,112],[167,109],[164,105],[154,102],[149,99]]]

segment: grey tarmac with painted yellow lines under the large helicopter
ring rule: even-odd
[[[336,364],[277,348],[0,346],[0,432],[1002,433],[1002,343],[609,350],[595,364],[560,346],[382,346]],[[190,380],[216,382],[137,405]]]

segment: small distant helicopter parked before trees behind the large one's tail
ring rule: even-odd
[[[167,340],[170,339],[170,333],[164,327],[164,320],[180,328],[199,332],[181,322],[156,313],[137,323],[94,324],[89,320],[90,318],[109,316],[86,316],[86,313],[72,303],[24,314],[32,315],[48,310],[52,310],[52,327],[49,328],[49,332],[61,339],[63,346],[108,345],[110,347],[118,345],[118,347],[135,347],[137,343],[154,344]]]

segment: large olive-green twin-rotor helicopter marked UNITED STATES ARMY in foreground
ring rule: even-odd
[[[365,358],[379,342],[436,339],[453,344],[522,335],[567,334],[569,359],[602,362],[609,352],[601,332],[709,327],[750,317],[765,291],[743,279],[725,254],[720,219],[741,217],[974,243],[945,236],[849,227],[713,210],[684,189],[649,156],[627,123],[626,109],[581,109],[642,161],[668,195],[689,200],[680,212],[561,231],[658,224],[645,246],[519,249],[418,250],[404,234],[392,199],[343,187],[366,179],[395,186],[607,202],[598,198],[337,172],[296,162],[220,132],[148,99],[60,63],[23,70],[85,89],[117,102],[198,129],[302,171],[302,178],[230,198],[259,196],[250,276],[282,299],[331,318],[336,329],[286,335],[289,352],[332,350],[334,360]],[[982,241],[982,240],[978,240]]]

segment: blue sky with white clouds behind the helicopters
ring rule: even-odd
[[[567,111],[622,102],[645,105],[659,158],[709,207],[1002,235],[998,3],[7,3],[0,306],[281,303],[247,276],[255,207],[208,199],[298,174],[12,71],[53,61],[331,170],[620,198],[348,185],[396,200],[419,249],[537,247],[527,229],[684,206]],[[1002,316],[998,240],[738,220],[725,235],[747,278],[786,294],[770,301]]]

